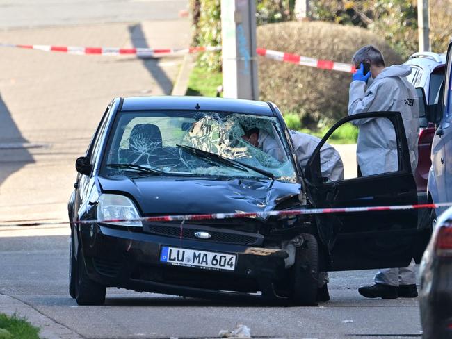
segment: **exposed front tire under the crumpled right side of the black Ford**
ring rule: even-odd
[[[301,235],[305,240],[298,247],[295,263],[291,267],[291,304],[313,306],[317,304],[318,243],[312,234]]]

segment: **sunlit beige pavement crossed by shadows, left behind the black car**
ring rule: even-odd
[[[0,31],[0,41],[87,47],[188,47],[188,19]],[[76,177],[113,97],[170,94],[182,58],[76,56],[2,48],[0,223],[66,220]]]

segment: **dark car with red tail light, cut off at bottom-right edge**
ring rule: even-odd
[[[420,272],[423,338],[452,338],[452,208],[439,217]]]

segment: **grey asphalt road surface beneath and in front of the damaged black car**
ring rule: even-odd
[[[82,338],[218,338],[221,329],[236,324],[250,327],[254,338],[421,336],[417,299],[358,295],[356,289],[371,282],[373,271],[332,273],[332,300],[316,307],[219,303],[115,288],[108,288],[104,306],[77,306],[67,294],[67,235],[27,234],[33,233],[0,229],[0,294],[31,305]]]

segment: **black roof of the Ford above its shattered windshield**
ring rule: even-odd
[[[131,110],[202,110],[255,115],[274,115],[268,103],[244,99],[223,99],[212,97],[126,97],[121,111]]]

